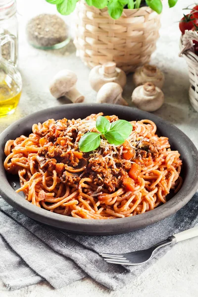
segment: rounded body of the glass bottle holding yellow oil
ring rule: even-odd
[[[0,73],[0,117],[15,111],[21,88],[9,74]]]

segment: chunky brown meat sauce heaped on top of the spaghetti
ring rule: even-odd
[[[91,115],[85,120],[91,120]],[[116,116],[106,116],[109,122],[118,120]],[[73,122],[72,122],[73,121]],[[128,177],[133,162],[144,165],[146,161],[158,157],[160,149],[157,142],[142,138],[133,147],[128,141],[114,149],[99,148],[97,151],[82,153],[78,149],[80,137],[88,131],[82,132],[74,127],[74,120],[62,119],[54,121],[50,128],[40,132],[41,148],[36,157],[40,168],[52,173],[56,170],[61,182],[69,186],[78,187],[81,176],[89,177],[97,186],[103,186],[112,193],[123,187],[123,181]]]

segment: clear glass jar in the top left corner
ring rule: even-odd
[[[1,55],[4,59],[17,63],[18,56],[18,21],[16,17],[16,0],[0,0],[0,39]],[[11,41],[14,41],[11,43]],[[12,50],[14,47],[14,51]],[[15,57],[11,57],[15,52]]]

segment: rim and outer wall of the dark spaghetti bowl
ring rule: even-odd
[[[101,107],[102,106],[102,107]],[[119,106],[119,107],[118,107]],[[24,124],[27,121],[33,121],[34,117],[40,117],[42,118],[42,115],[50,114],[51,112],[57,113],[59,111],[62,111],[63,109],[75,109],[75,108],[105,108],[109,107],[112,110],[115,109],[118,110],[118,108],[122,108],[123,112],[131,110],[131,112],[135,112],[139,114],[139,118],[148,118],[153,120],[154,122],[161,122],[162,124],[167,125],[167,129],[174,129],[177,134],[184,139],[184,142],[188,144],[188,152],[191,152],[193,157],[193,166],[190,166],[191,173],[194,173],[193,175],[189,176],[187,174],[187,178],[185,183],[187,184],[186,187],[181,188],[181,190],[174,195],[173,198],[171,198],[169,201],[167,201],[165,204],[162,204],[158,207],[156,207],[153,210],[150,210],[146,213],[139,214],[136,216],[131,216],[127,218],[119,218],[119,219],[110,219],[110,220],[92,220],[92,219],[80,219],[80,218],[74,218],[69,216],[63,216],[54,212],[49,212],[46,209],[39,208],[38,206],[33,205],[32,203],[29,203],[26,199],[21,197],[19,194],[17,194],[10,184],[8,183],[8,180],[6,178],[5,170],[3,167],[2,162],[0,162],[0,196],[6,200],[11,206],[13,206],[15,209],[19,210],[22,213],[25,213],[27,216],[29,216],[32,219],[35,219],[41,223],[50,225],[52,227],[60,228],[67,230],[69,232],[73,233],[80,233],[80,234],[89,234],[89,235],[104,235],[104,234],[120,234],[120,233],[126,233],[131,230],[137,230],[144,228],[150,224],[153,224],[155,222],[158,222],[162,219],[165,219],[166,217],[174,214],[176,211],[181,209],[196,193],[198,190],[198,150],[193,144],[193,142],[189,139],[188,136],[186,136],[180,129],[178,129],[176,126],[174,126],[171,123],[168,123],[166,120],[148,113],[146,111],[139,110],[137,108],[129,107],[129,106],[120,106],[120,105],[114,105],[114,104],[89,104],[89,103],[75,103],[75,104],[65,104],[65,105],[58,105],[55,107],[50,107],[47,109],[43,109],[40,111],[37,111],[35,113],[32,113],[28,116],[25,116],[16,122],[12,123],[10,126],[8,126],[1,134],[0,134],[0,143],[3,143],[3,146],[5,144],[5,139],[9,138],[10,133],[12,133],[13,129],[17,129],[17,127],[20,124]],[[42,121],[42,120],[41,120]],[[157,125],[157,124],[156,124]],[[2,156],[4,152],[0,150],[0,156]],[[188,185],[188,182],[190,182],[190,187]],[[183,198],[181,198],[181,196]],[[66,224],[66,226],[65,226]],[[125,225],[125,228],[122,228],[121,226]],[[92,231],[92,229],[89,230],[90,226],[93,228],[98,227],[97,230]],[[65,228],[66,227],[66,228]],[[80,228],[79,228],[80,227]],[[79,231],[80,229],[80,231]],[[106,232],[108,229],[109,232]],[[122,229],[125,231],[123,232]]]

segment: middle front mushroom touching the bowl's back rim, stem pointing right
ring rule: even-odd
[[[107,83],[103,85],[97,94],[97,102],[128,105],[122,98],[122,88],[117,83]]]

